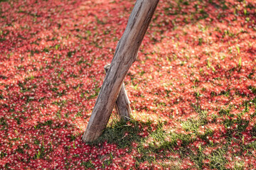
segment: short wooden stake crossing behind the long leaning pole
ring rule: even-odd
[[[110,69],[110,64],[106,64],[104,69],[107,74],[108,69]],[[117,97],[117,101],[114,104],[114,108],[116,108],[117,115],[119,116],[120,120],[128,121],[130,119],[132,109],[129,104],[130,102],[127,91],[125,90],[124,83],[122,83],[119,95]]]

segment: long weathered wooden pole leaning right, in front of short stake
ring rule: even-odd
[[[124,30],[117,43],[110,69],[103,81],[100,94],[87,124],[82,141],[92,142],[102,134],[110,119],[124,77],[137,58],[139,46],[159,0],[137,0]]]

